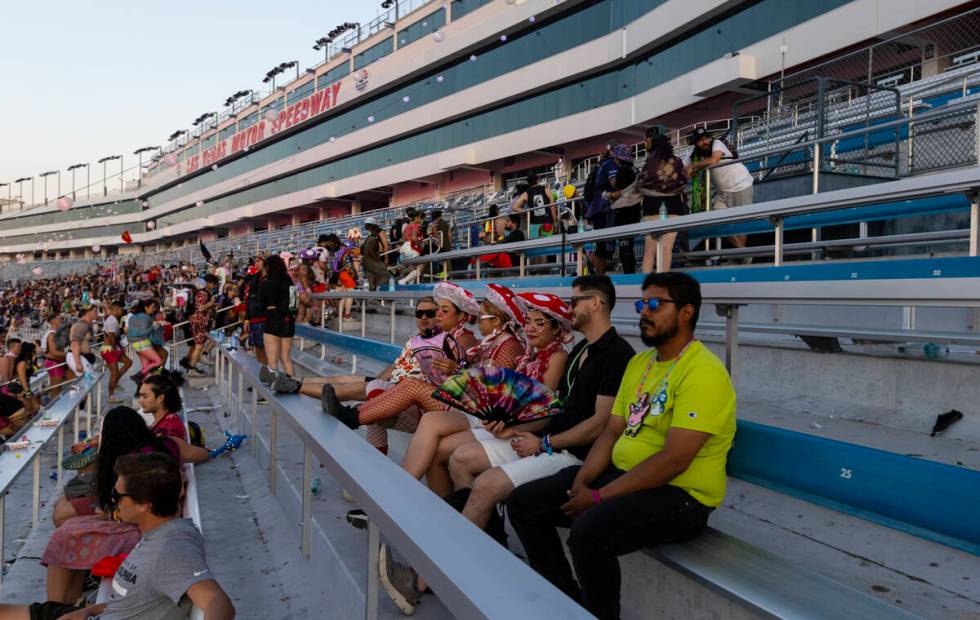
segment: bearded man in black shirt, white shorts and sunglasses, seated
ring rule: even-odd
[[[460,446],[449,461],[457,490],[471,487],[463,516],[484,527],[497,503],[515,488],[579,465],[609,420],[619,382],[633,357],[612,327],[616,290],[607,276],[572,282],[572,328],[584,338],[571,351],[558,384],[561,414],[527,428],[503,429],[494,439]]]

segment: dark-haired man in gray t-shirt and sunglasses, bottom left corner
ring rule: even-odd
[[[190,520],[176,518],[180,466],[165,454],[130,454],[116,460],[116,473],[113,501],[143,538],[116,571],[109,602],[0,605],[0,620],[183,620],[192,605],[208,620],[235,617],[208,568],[201,533]]]

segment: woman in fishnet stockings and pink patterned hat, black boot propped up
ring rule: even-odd
[[[444,346],[448,346],[460,361],[464,361],[466,351],[478,344],[466,325],[480,313],[480,305],[472,293],[451,282],[440,282],[432,292],[437,304],[436,320],[447,334],[445,339],[448,344]],[[457,362],[437,359],[432,366],[446,373],[454,370]],[[418,407],[420,412],[442,409],[443,405],[432,398],[433,389],[433,384],[426,379],[406,378],[378,398],[358,407],[349,407],[341,404],[334,387],[326,384],[321,393],[321,402],[325,413],[356,429],[363,424],[396,418],[413,406]]]

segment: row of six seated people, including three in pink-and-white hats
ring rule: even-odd
[[[606,276],[576,278],[568,300],[485,290],[478,300],[437,284],[415,306],[418,333],[376,377],[296,379],[272,362],[260,376],[282,394],[319,399],[352,429],[366,426],[385,453],[389,431],[412,433],[406,471],[504,545],[505,510],[536,571],[596,616],[618,618],[618,556],[696,536],[725,493],[735,392],[724,364],[694,338],[700,285],[679,272],[646,277],[635,303],[649,347],[641,353],[612,326],[616,290]],[[287,340],[291,329],[277,326]],[[566,349],[576,332],[581,340]],[[436,398],[441,381],[477,368],[543,384],[559,412],[505,425]],[[366,519],[348,514],[357,527]],[[571,528],[571,566],[557,527]],[[379,566],[385,591],[412,613],[424,580],[385,545]]]

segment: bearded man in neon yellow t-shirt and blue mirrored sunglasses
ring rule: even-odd
[[[626,368],[612,416],[581,467],[522,485],[507,502],[531,567],[600,619],[619,617],[620,555],[700,533],[725,495],[735,390],[694,338],[697,280],[650,274],[636,304],[654,347]],[[572,576],[555,527],[571,526]]]

